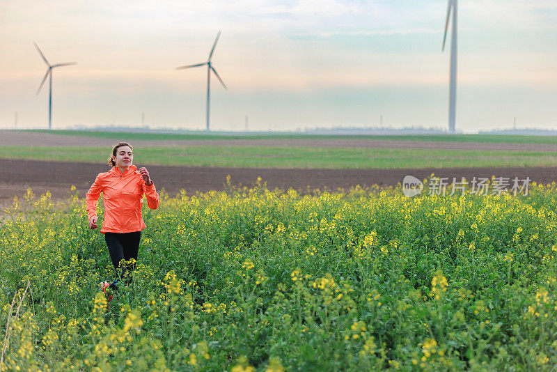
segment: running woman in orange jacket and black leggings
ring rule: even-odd
[[[100,232],[104,233],[112,265],[116,270],[116,280],[112,284],[100,284],[105,292],[107,286],[117,289],[119,278],[127,277],[127,283],[130,281],[130,272],[134,270],[134,263],[137,261],[141,231],[146,227],[141,215],[143,194],[147,196],[149,208],[159,208],[159,194],[149,171],[146,168],[138,170],[132,165],[133,159],[132,145],[127,142],[116,144],[109,157],[112,169],[99,173],[86,196],[91,229],[97,228],[97,199],[101,192],[104,199],[104,222]],[[132,258],[131,264],[126,263]]]

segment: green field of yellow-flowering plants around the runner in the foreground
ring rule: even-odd
[[[556,191],[162,196],[109,307],[84,201],[29,193],[0,217],[1,369],[551,370]]]

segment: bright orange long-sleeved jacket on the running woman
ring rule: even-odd
[[[145,228],[141,215],[143,194],[147,196],[149,208],[159,208],[159,194],[155,189],[155,183],[146,185],[134,165],[123,173],[118,166],[113,166],[108,172],[99,173],[86,196],[89,219],[97,215],[97,199],[101,192],[104,197],[104,222],[101,233],[142,231]]]

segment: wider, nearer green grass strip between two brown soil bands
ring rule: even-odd
[[[28,160],[104,163],[109,153],[110,149],[106,147],[0,147],[2,158]],[[134,164],[302,169],[557,166],[557,153],[407,148],[155,146],[135,148]]]

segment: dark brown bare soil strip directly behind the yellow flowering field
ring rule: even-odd
[[[95,180],[97,173],[107,171],[107,165],[70,162],[42,162],[37,160],[0,159],[0,206],[7,206],[14,196],[21,197],[31,187],[37,196],[50,190],[53,199],[67,199],[70,186],[75,185],[80,196],[84,196]],[[187,194],[224,189],[226,176],[230,175],[233,185],[253,186],[258,176],[274,189],[336,190],[360,185],[396,185],[407,175],[423,180],[435,173],[452,180],[465,177],[530,177],[538,183],[557,180],[557,167],[542,168],[446,168],[446,169],[251,169],[251,168],[208,168],[202,166],[149,166],[157,190],[165,189],[175,196],[180,189]]]

